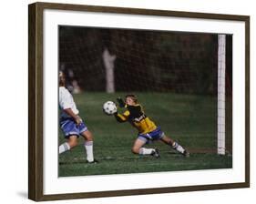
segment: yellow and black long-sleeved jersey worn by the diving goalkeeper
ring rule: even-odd
[[[155,123],[144,113],[143,108],[137,104],[135,106],[126,105],[127,110],[123,114],[116,114],[118,122],[128,121],[133,127],[138,129],[139,134],[147,134],[157,128]]]

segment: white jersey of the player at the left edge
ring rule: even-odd
[[[69,93],[66,87],[59,87],[59,107],[62,109],[61,117],[70,117],[63,110],[67,108],[71,108],[71,110],[78,115],[79,111],[77,110],[77,106],[74,102],[72,95]]]

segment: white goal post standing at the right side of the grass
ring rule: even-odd
[[[226,35],[218,35],[218,154],[225,155]]]

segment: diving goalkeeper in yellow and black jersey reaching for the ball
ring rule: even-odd
[[[159,158],[158,148],[143,148],[143,146],[149,141],[161,140],[185,157],[189,157],[189,152],[185,148],[182,148],[176,141],[167,137],[164,132],[145,115],[135,95],[127,95],[125,101],[123,101],[121,97],[118,97],[117,100],[119,107],[126,107],[127,109],[123,114],[118,112],[114,114],[118,122],[122,123],[128,121],[133,127],[138,129],[138,138],[135,140],[131,149],[134,154],[151,155]]]

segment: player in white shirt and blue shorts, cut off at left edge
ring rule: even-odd
[[[79,136],[85,138],[84,147],[87,152],[87,162],[97,163],[93,155],[93,136],[88,130],[81,117],[78,116],[78,109],[72,95],[65,87],[65,75],[59,72],[59,107],[61,108],[60,128],[62,129],[67,142],[59,146],[59,154],[75,148]]]

